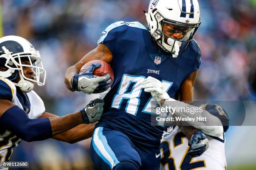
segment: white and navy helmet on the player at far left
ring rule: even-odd
[[[22,64],[24,59],[30,64]],[[0,66],[7,68],[0,71],[1,77],[15,80],[20,75],[20,81],[14,84],[23,92],[33,90],[32,82],[36,82],[38,86],[45,83],[46,70],[41,62],[40,53],[23,37],[9,35],[0,38]],[[23,67],[30,67],[33,70],[33,79],[24,75]]]

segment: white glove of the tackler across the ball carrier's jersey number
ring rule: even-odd
[[[161,100],[170,100],[171,97],[165,92],[161,81],[148,76],[142,81],[142,88],[145,92],[151,92],[152,97],[161,105]]]

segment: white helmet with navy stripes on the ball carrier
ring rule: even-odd
[[[177,57],[182,54],[193,40],[200,27],[200,9],[197,0],[151,0],[148,13],[144,11],[150,33],[158,45]],[[164,25],[172,25],[172,32],[179,32],[182,38],[177,39],[164,33]],[[179,47],[185,42],[184,50]]]

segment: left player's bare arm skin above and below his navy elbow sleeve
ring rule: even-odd
[[[0,117],[6,110],[15,106],[9,100],[0,100]],[[24,112],[26,114],[26,112]],[[49,117],[52,135],[58,135],[83,123],[81,112],[70,113],[61,117]]]

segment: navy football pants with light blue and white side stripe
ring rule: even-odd
[[[94,130],[90,155],[99,170],[119,170],[125,167],[159,170],[160,157],[156,158],[156,154],[159,154],[158,147],[139,148],[120,131],[103,127]]]

